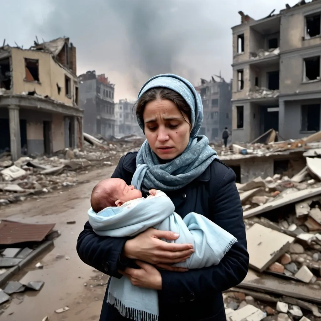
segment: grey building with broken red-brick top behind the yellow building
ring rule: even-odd
[[[115,104],[112,84],[105,74],[87,71],[79,77],[79,105],[84,109],[84,132],[105,137],[115,134]]]

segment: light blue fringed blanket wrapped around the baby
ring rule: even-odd
[[[191,243],[195,249],[185,262],[175,266],[196,269],[217,265],[237,242],[229,232],[213,223],[206,217],[189,213],[182,219],[174,212],[175,206],[163,192],[156,196],[127,206],[108,207],[99,213],[88,211],[89,223],[96,234],[109,237],[131,237],[153,227],[178,233],[177,240],[171,243]],[[158,320],[158,295],[156,290],[134,286],[127,277],[121,279],[111,277],[107,302],[113,305],[124,317],[135,321]]]

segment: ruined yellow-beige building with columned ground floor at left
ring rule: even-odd
[[[50,154],[82,146],[76,48],[69,38],[0,48],[0,151]]]

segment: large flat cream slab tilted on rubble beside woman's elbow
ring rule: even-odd
[[[294,238],[281,232],[254,224],[246,231],[249,266],[263,272],[277,261],[289,248]]]

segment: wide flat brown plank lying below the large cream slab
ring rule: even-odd
[[[244,281],[238,287],[321,304],[320,289],[313,289],[308,284],[301,282],[282,280],[270,275],[256,273],[253,270],[248,271]]]

